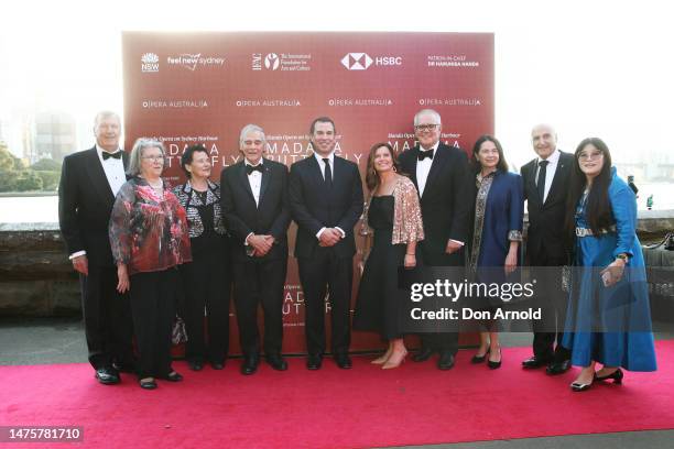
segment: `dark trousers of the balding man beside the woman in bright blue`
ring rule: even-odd
[[[570,359],[570,351],[562,346],[568,305],[567,295],[562,291],[562,265],[565,262],[564,254],[540,254],[530,259],[532,266],[546,267],[540,271],[537,284],[545,286],[545,295],[547,295],[537,302],[543,319],[532,322],[533,353],[536,358],[555,362]],[[552,329],[556,331],[551,331]]]

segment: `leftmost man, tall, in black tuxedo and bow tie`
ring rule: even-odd
[[[117,292],[108,222],[115,196],[127,182],[127,154],[119,147],[115,112],[96,116],[96,145],[65,157],[58,185],[58,223],[73,266],[79,273],[89,362],[102,384],[133,371],[133,326],[129,295]]]

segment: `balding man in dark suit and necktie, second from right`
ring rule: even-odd
[[[553,127],[539,124],[531,132],[537,157],[522,166],[524,198],[528,200],[529,232],[526,259],[531,266],[561,267],[567,264],[564,217],[574,156],[557,150],[557,134]],[[562,271],[545,270],[537,280],[546,288],[537,299],[543,309],[543,322],[533,322],[533,357],[522,366],[534,369],[547,365],[548,374],[561,374],[570,368],[570,351],[562,347],[566,300],[562,292]],[[551,331],[551,329],[555,329]],[[555,348],[555,339],[557,344]]]

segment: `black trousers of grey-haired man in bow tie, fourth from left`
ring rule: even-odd
[[[235,305],[244,355],[260,352],[258,305],[264,313],[264,353],[280,354],[283,343],[283,285],[287,259],[233,261]]]

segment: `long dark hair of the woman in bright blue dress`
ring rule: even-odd
[[[604,165],[601,166],[601,172],[593,179],[593,186],[587,196],[585,207],[586,220],[595,236],[599,236],[615,223],[608,197],[608,188],[611,184],[611,153],[601,139],[588,138],[580,142],[576,149],[570,174],[569,194],[566,202],[566,230],[572,241],[576,234],[576,207],[587,185],[587,177],[580,171],[578,157],[587,145],[593,145],[601,152]]]

